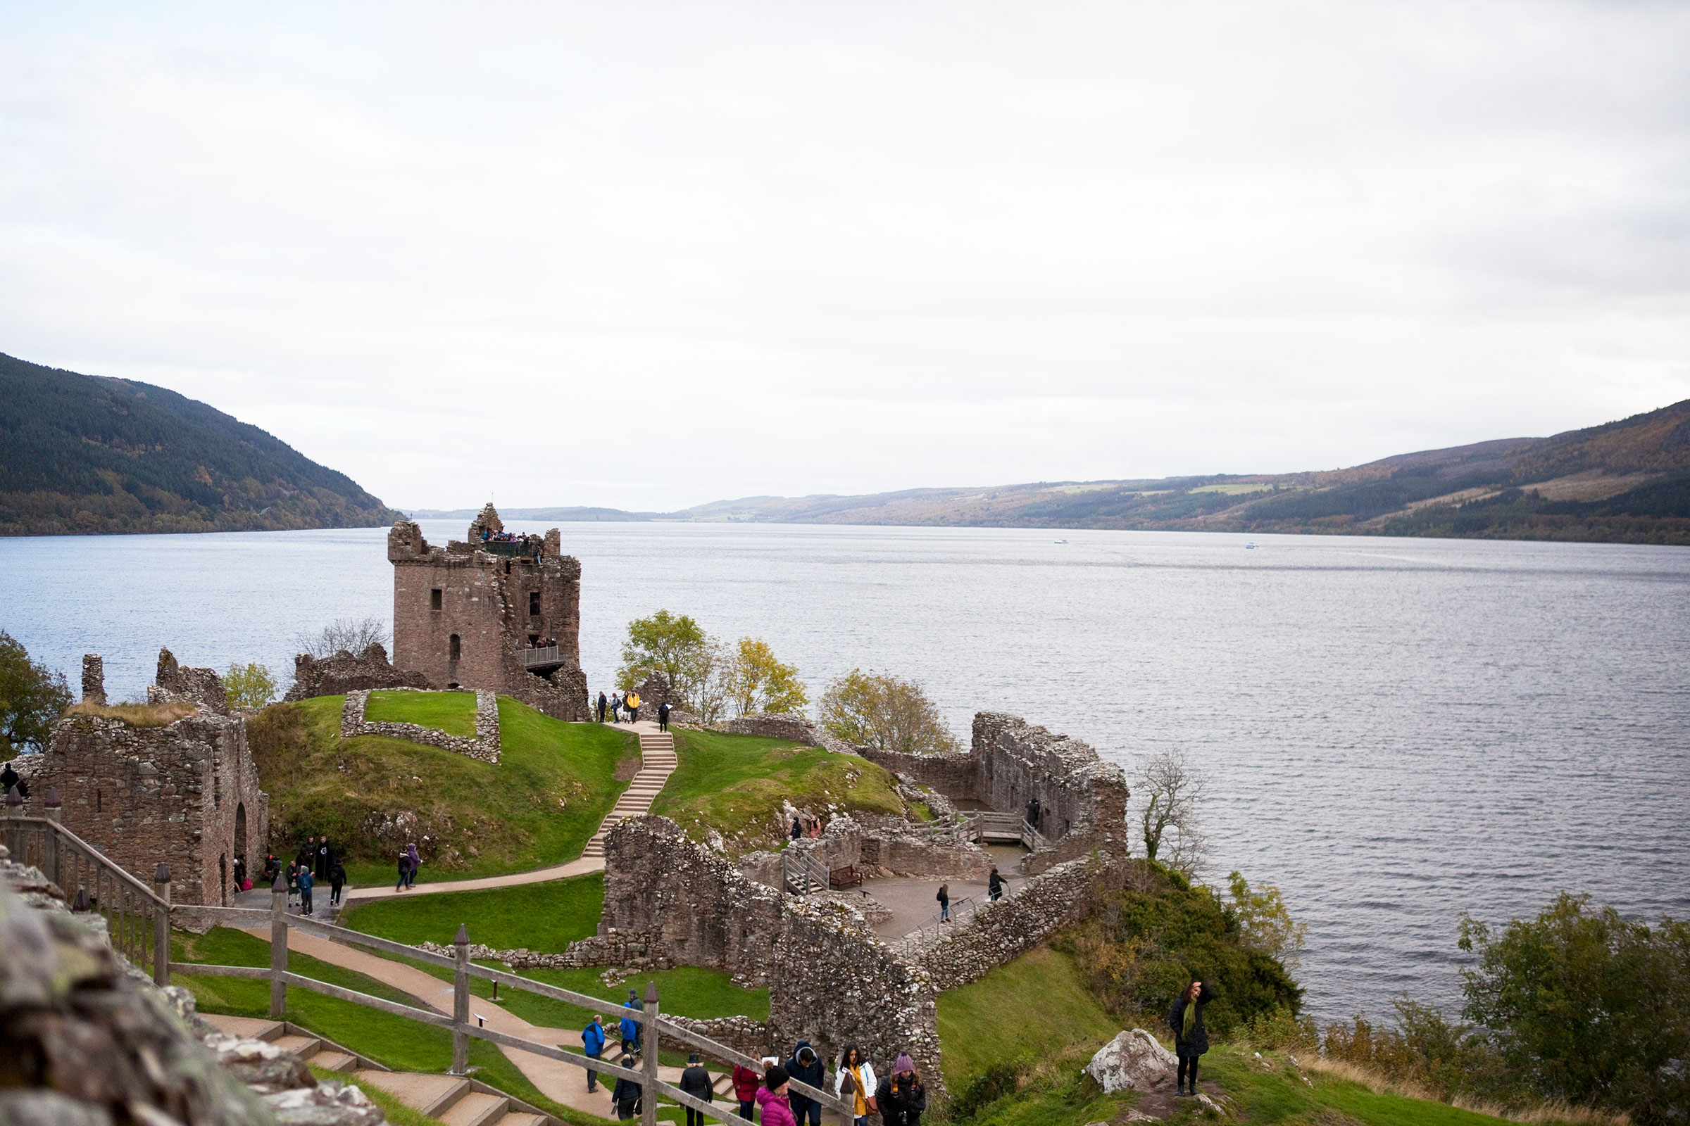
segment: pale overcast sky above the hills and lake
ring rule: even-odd
[[[1281,473],[1690,397],[1690,5],[0,5],[0,351],[395,506]]]

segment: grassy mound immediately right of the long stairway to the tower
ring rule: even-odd
[[[720,834],[732,856],[788,839],[782,802],[816,812],[921,812],[897,795],[891,773],[855,755],[718,731],[676,731],[674,755],[674,773],[651,812],[673,819],[695,841]]]

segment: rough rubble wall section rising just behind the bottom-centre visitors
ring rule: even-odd
[[[847,903],[788,896],[784,907],[769,967],[776,1043],[810,1040],[830,1064],[853,1043],[877,1074],[891,1074],[908,1052],[928,1089],[943,1092],[936,991],[926,972],[901,962]]]

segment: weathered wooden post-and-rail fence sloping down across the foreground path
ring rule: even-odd
[[[287,885],[277,880],[270,888],[270,910],[255,908],[230,908],[230,907],[198,907],[194,913],[199,917],[210,917],[223,925],[238,928],[255,928],[269,923],[270,927],[270,964],[264,966],[201,966],[198,962],[169,962],[169,972],[174,974],[206,974],[213,977],[260,977],[270,983],[270,1016],[281,1020],[282,1011],[287,1004],[287,986],[297,989],[309,989],[313,993],[321,993],[324,996],[340,998],[341,1001],[352,1001],[353,1004],[363,1004],[367,1008],[379,1010],[382,1013],[392,1013],[394,1016],[404,1016],[406,1020],[414,1020],[421,1025],[433,1025],[434,1028],[451,1030],[451,1072],[461,1075],[470,1065],[470,1038],[487,1040],[500,1047],[515,1048],[521,1052],[532,1052],[534,1055],[546,1057],[549,1060],[561,1060],[564,1064],[573,1064],[575,1067],[595,1070],[600,1075],[613,1075],[617,1079],[627,1079],[630,1082],[641,1084],[642,1091],[642,1114],[641,1123],[644,1126],[656,1126],[657,1121],[657,1099],[661,1094],[671,1102],[678,1102],[684,1107],[701,1111],[711,1118],[727,1121],[733,1111],[723,1109],[722,1104],[710,1104],[701,1099],[695,1099],[679,1087],[673,1084],[661,1082],[657,1079],[657,1052],[661,1038],[679,1040],[681,1043],[696,1048],[698,1052],[710,1055],[715,1060],[725,1064],[739,1064],[742,1067],[750,1067],[762,1072],[762,1060],[737,1052],[723,1043],[717,1043],[708,1037],[693,1031],[691,1028],[683,1028],[673,1021],[661,1016],[657,1008],[657,984],[649,983],[646,986],[646,999],[642,1008],[627,1008],[617,1004],[615,1001],[605,1001],[603,998],[595,998],[585,993],[575,993],[571,989],[561,989],[558,986],[548,986],[539,981],[531,981],[527,977],[519,977],[517,974],[507,974],[499,969],[488,969],[485,966],[477,966],[470,961],[470,932],[466,927],[458,927],[458,937],[455,942],[455,957],[446,957],[443,954],[434,954],[431,950],[422,950],[414,945],[404,945],[402,942],[390,942],[387,939],[377,939],[375,935],[367,935],[358,930],[346,930],[345,927],[335,927],[331,923],[319,923],[311,918],[301,918],[299,915],[287,913]],[[439,966],[443,969],[453,971],[453,1013],[446,1016],[434,1010],[419,1010],[411,1004],[401,1004],[397,1001],[387,1001],[384,998],[373,998],[367,993],[358,993],[357,989],[346,989],[343,986],[335,986],[326,981],[316,981],[314,977],[306,977],[303,974],[294,974],[287,969],[287,932],[303,930],[304,934],[316,935],[319,939],[328,939],[331,942],[345,942],[348,945],[358,945],[380,954],[390,954],[397,957],[412,959],[424,962],[428,966]],[[602,1057],[588,1057],[580,1052],[568,1052],[556,1045],[539,1043],[527,1040],[524,1037],[514,1037],[510,1033],[499,1031],[495,1028],[483,1028],[470,1018],[470,979],[480,977],[483,981],[492,981],[510,989],[521,989],[524,993],[532,993],[542,998],[551,998],[553,1001],[564,1001],[568,1004],[576,1004],[585,1010],[597,1013],[605,1013],[613,1020],[632,1018],[639,1021],[641,1026],[641,1070],[632,1070],[620,1067],[617,1064],[608,1064]],[[608,1028],[607,1031],[615,1031]],[[799,1094],[806,1094],[811,1099],[821,1102],[831,1111],[845,1114],[850,1118],[852,1106],[826,1091],[820,1091],[799,1080],[793,1080],[793,1089]]]

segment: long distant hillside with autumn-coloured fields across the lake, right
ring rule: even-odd
[[[1690,400],[1553,437],[1428,449],[1350,469],[747,496],[659,518],[1690,545]]]

